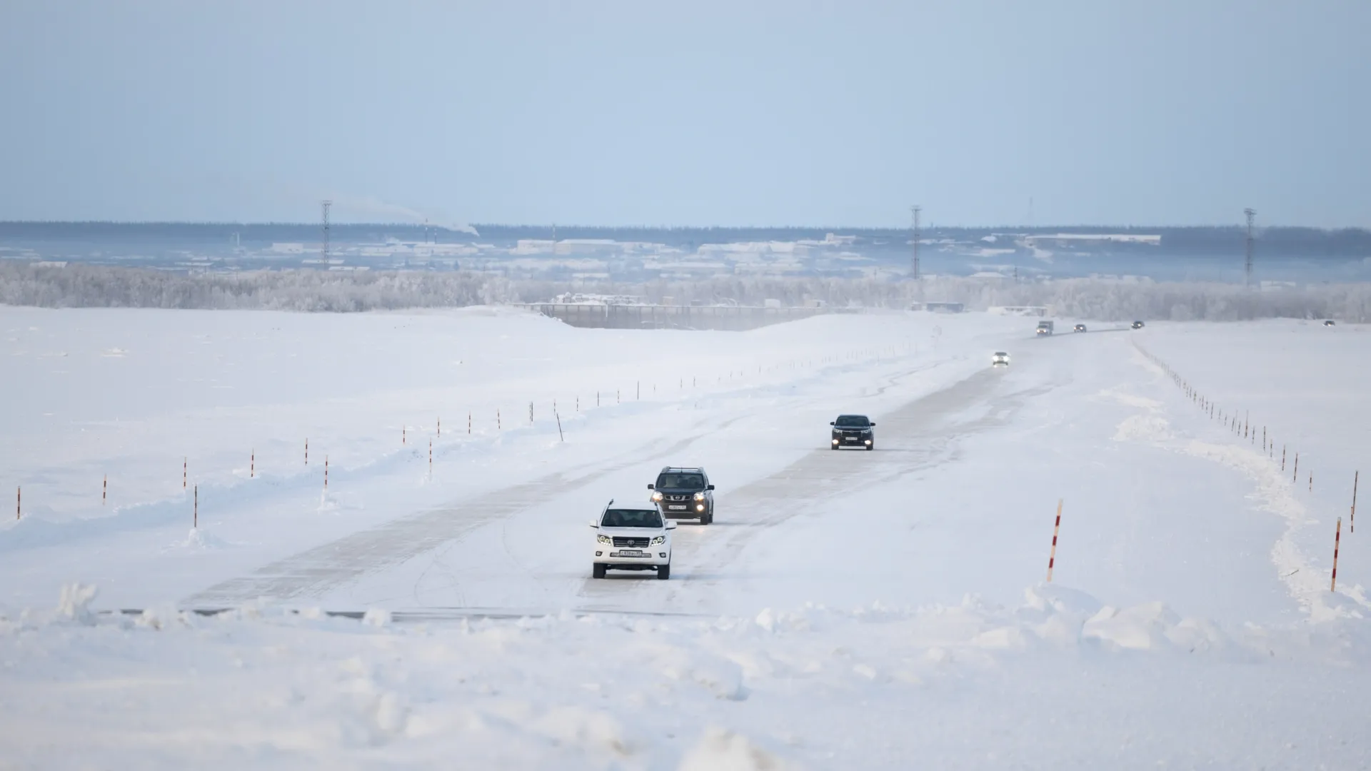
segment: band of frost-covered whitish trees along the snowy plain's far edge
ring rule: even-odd
[[[258,270],[170,273],[140,268],[47,268],[0,261],[0,305],[38,307],[156,307],[359,313],[547,302],[563,292],[627,295],[677,305],[906,309],[913,302],[960,302],[968,310],[1047,306],[1057,316],[1098,321],[1134,318],[1242,321],[1337,318],[1371,321],[1371,283],[1275,287],[1198,281],[971,278],[920,281],[824,277],[728,277],[694,281],[577,283],[517,280],[472,272],[336,273]]]

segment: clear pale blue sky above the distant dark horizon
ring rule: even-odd
[[[0,220],[1371,226],[1371,1],[0,3]]]

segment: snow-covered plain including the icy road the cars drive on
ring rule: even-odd
[[[1367,328],[1087,324],[0,307],[0,768],[1371,767]]]

